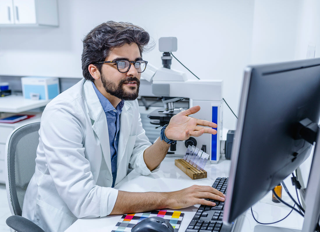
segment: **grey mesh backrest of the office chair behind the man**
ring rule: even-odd
[[[8,143],[8,180],[10,200],[15,215],[21,216],[23,199],[35,173],[36,150],[40,122],[30,123],[14,131]],[[8,187],[8,186],[7,186]]]

